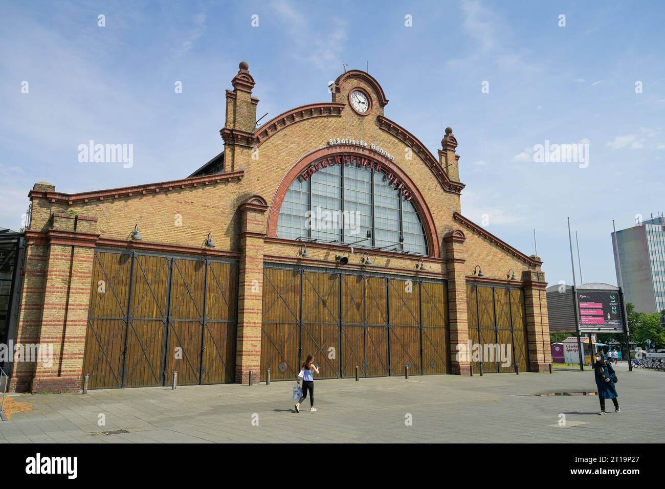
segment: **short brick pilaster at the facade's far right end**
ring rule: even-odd
[[[522,281],[526,303],[529,369],[531,372],[548,372],[549,364],[552,363],[552,351],[549,343],[545,273],[540,270],[525,270],[522,272]]]

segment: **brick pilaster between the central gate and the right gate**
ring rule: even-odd
[[[469,375],[469,361],[458,361],[458,345],[466,347],[469,325],[466,311],[466,236],[455,230],[444,237],[446,268],[448,270],[448,311],[450,327],[450,371],[456,375]]]

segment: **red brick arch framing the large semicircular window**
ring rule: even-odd
[[[270,213],[268,216],[268,236],[270,238],[277,238],[277,220],[279,219],[279,210],[282,207],[282,202],[287,194],[287,191],[291,187],[293,180],[298,178],[298,176],[313,162],[326,158],[327,156],[340,156],[342,154],[352,155],[352,156],[362,156],[369,160],[374,160],[375,162],[380,163],[383,168],[392,172],[397,176],[400,182],[404,183],[404,186],[411,192],[413,198],[411,202],[414,204],[416,211],[418,211],[418,216],[422,221],[422,226],[425,232],[425,239],[427,241],[427,248],[430,253],[430,256],[440,257],[440,244],[438,234],[436,232],[436,226],[434,226],[434,218],[430,208],[427,206],[424,197],[418,190],[416,184],[409,176],[396,165],[394,162],[386,160],[386,158],[380,156],[372,150],[366,148],[360,148],[358,146],[334,146],[326,147],[315,150],[303,158],[301,158],[295,165],[291,167],[289,172],[284,176],[277,192],[275,192],[275,197],[270,206]]]

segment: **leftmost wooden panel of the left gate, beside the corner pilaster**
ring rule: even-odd
[[[130,253],[94,253],[83,375],[90,389],[122,387]]]

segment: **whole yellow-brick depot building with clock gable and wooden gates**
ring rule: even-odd
[[[80,194],[35,184],[15,341],[53,344],[53,362],[15,362],[11,389],[71,391],[85,375],[168,385],[173,371],[190,384],[293,379],[308,353],[323,377],[548,369],[541,261],[463,216],[452,129],[434,156],[386,118],[362,71],[340,75],[331,102],[259,128],[246,63],[231,84],[224,151],[192,176]],[[295,238],[296,195],[366,209],[367,233]],[[459,359],[469,340],[507,343],[510,366]]]

